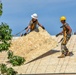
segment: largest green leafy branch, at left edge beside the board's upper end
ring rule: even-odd
[[[6,23],[1,23],[0,25],[0,51],[8,50],[10,47],[10,40],[12,30],[9,28],[9,25]]]

